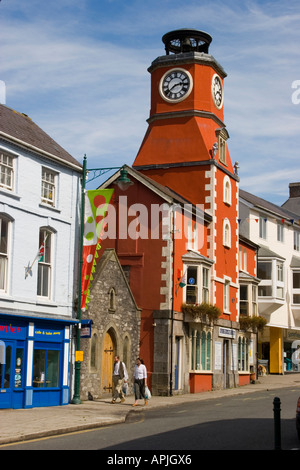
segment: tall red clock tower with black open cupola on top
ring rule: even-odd
[[[133,168],[203,205],[212,216],[207,250],[214,261],[210,300],[221,308],[229,326],[238,315],[238,176],[224,124],[226,73],[209,54],[209,34],[180,29],[165,34],[162,41],[166,55],[148,69],[149,126]]]

